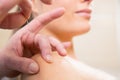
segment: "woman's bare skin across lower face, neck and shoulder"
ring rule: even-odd
[[[45,62],[40,54],[32,58],[38,62],[40,71],[35,75],[23,74],[22,80],[116,80],[113,76],[89,67],[77,60],[74,53],[72,38],[85,34],[90,30],[90,3],[92,0],[50,0],[45,4],[33,0],[34,16],[43,14],[58,7],[64,7],[65,13],[59,19],[49,23],[40,33],[63,41],[71,41],[68,54],[61,57],[57,52],[52,53],[53,63]],[[51,39],[51,42],[54,42]],[[57,44],[56,44],[57,45]]]

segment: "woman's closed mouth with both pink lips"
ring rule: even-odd
[[[85,17],[85,18],[90,18],[91,17],[91,10],[90,9],[82,9],[82,10],[78,10],[75,11],[75,14],[81,16],[81,17]]]

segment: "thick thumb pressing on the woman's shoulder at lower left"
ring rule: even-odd
[[[10,70],[26,74],[35,74],[39,71],[37,63],[25,57],[9,56],[5,59],[5,66]]]

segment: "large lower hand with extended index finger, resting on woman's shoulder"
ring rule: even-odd
[[[66,55],[64,48],[69,46],[69,43],[61,44],[57,39],[37,34],[46,24],[63,14],[63,8],[53,10],[38,16],[16,32],[0,51],[0,75],[16,76],[16,71],[28,74],[37,73],[39,68],[36,62],[25,57],[29,53],[32,53],[29,57],[36,53],[34,51],[41,52],[42,57],[48,62],[51,62],[51,49],[56,49],[60,55]]]

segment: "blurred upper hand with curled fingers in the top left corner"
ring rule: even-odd
[[[16,5],[21,10],[9,13]],[[21,27],[29,19],[31,12],[31,0],[0,0],[0,28],[13,29]]]

